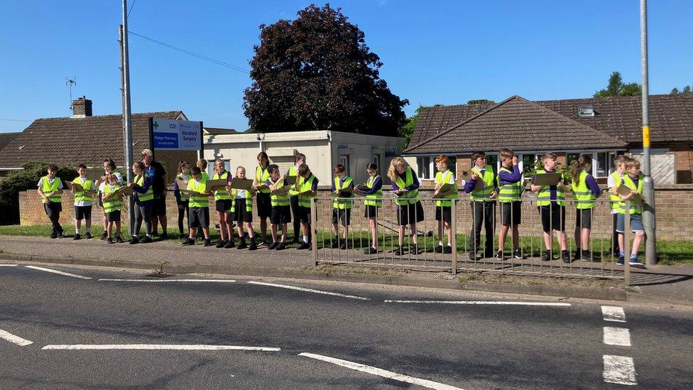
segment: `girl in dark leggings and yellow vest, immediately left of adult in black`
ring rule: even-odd
[[[151,210],[154,204],[154,190],[152,188],[152,180],[144,172],[144,163],[137,161],[132,164],[132,173],[135,174],[133,183],[129,183],[128,187],[133,190],[133,200],[135,202],[135,226],[132,227],[132,238],[129,244],[137,244],[140,242],[139,234],[142,222],[144,222],[145,236],[142,239],[144,244],[152,242],[151,239]]]

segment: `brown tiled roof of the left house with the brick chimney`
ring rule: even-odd
[[[180,111],[132,114],[133,150],[150,148],[149,118],[178,119]],[[123,117],[36,119],[0,150],[0,168],[18,168],[27,161],[85,163],[99,166],[110,157],[124,164]]]

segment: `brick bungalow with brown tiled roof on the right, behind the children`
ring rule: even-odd
[[[691,183],[693,95],[653,95],[649,102],[655,183]],[[605,182],[616,154],[641,156],[640,107],[640,97],[530,102],[519,96],[498,104],[431,107],[420,115],[403,155],[429,180],[440,153],[456,158],[458,177],[471,166],[474,151],[486,151],[498,168],[498,149],[511,148],[525,172],[548,151],[564,164],[591,154],[592,174]]]

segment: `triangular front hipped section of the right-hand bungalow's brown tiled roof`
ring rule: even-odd
[[[438,131],[405,153],[625,148],[626,143],[519,96]]]

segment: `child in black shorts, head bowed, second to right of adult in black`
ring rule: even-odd
[[[197,228],[202,229],[204,234],[204,246],[212,246],[209,241],[209,195],[207,193],[207,180],[202,176],[202,171],[197,166],[190,169],[192,180],[187,182],[187,190],[190,193],[188,206],[190,214],[187,216],[187,224],[190,226],[190,235],[182,242],[182,245],[195,245],[195,233]]]

